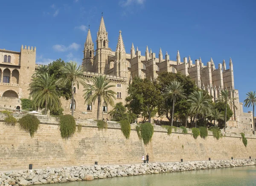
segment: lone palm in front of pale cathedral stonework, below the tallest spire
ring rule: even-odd
[[[93,77],[93,84],[87,84],[84,88],[84,103],[95,103],[95,100],[98,100],[98,109],[97,109],[97,120],[99,120],[99,111],[101,108],[102,100],[106,104],[114,106],[113,99],[116,99],[116,92],[109,90],[109,88],[114,87],[114,85],[109,85],[110,81],[106,80],[106,76]]]

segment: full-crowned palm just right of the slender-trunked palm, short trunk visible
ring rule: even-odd
[[[203,116],[211,112],[211,99],[207,98],[207,94],[202,91],[195,91],[189,95],[188,102],[191,103],[190,113],[195,114],[195,127],[197,124],[198,114]]]

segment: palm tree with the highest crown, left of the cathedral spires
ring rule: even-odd
[[[77,89],[79,89],[79,83],[84,85],[84,73],[81,65],[77,66],[77,63],[75,61],[70,61],[66,63],[66,66],[61,68],[62,73],[65,77],[61,77],[57,80],[56,84],[60,84],[62,86],[67,86],[71,84],[71,113],[72,116],[74,116],[74,86],[77,86]]]

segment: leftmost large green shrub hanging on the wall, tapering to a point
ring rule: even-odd
[[[34,137],[35,132],[37,132],[40,121],[35,115],[27,114],[19,119],[20,129],[29,132],[30,137]]]

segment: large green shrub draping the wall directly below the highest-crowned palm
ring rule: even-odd
[[[59,120],[61,137],[68,139],[73,136],[76,132],[76,121],[71,115],[60,116]]]

